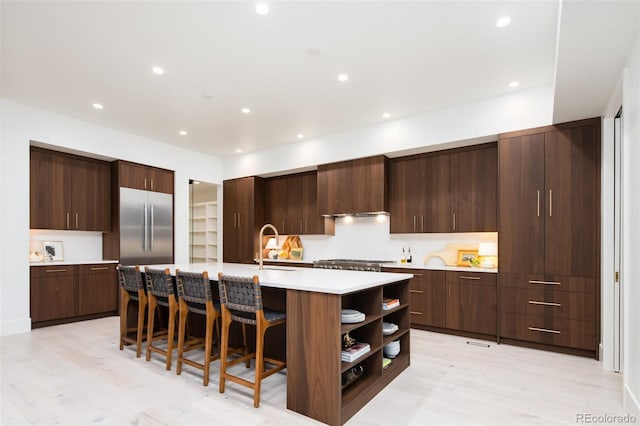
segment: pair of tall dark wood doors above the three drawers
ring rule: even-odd
[[[600,121],[503,135],[500,272],[595,277]]]

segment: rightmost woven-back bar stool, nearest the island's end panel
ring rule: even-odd
[[[253,389],[253,406],[260,406],[260,386],[262,379],[282,370],[286,367],[284,361],[264,357],[264,335],[268,328],[284,324],[287,315],[284,312],[264,309],[262,306],[262,290],[257,275],[253,278],[234,277],[218,274],[218,290],[222,306],[222,352],[220,354],[220,393],[224,393],[225,380]],[[232,321],[256,326],[256,350],[231,361],[227,360],[229,345],[229,327]],[[256,360],[255,381],[252,383],[241,377],[227,373],[227,368],[249,361]],[[265,370],[265,361],[274,365]]]

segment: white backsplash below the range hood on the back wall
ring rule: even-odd
[[[402,248],[411,247],[414,264],[423,264],[426,255],[449,244],[465,244],[477,249],[481,241],[497,242],[497,232],[390,234],[389,217],[336,218],[336,232],[330,235],[302,235],[303,259],[374,259],[399,261]]]

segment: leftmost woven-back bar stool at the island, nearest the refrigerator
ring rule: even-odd
[[[147,307],[147,295],[142,283],[142,274],[139,266],[118,265],[118,279],[120,282],[120,350],[125,343],[136,345],[136,358],[142,355],[142,336],[144,334],[144,314]],[[136,327],[127,328],[127,310],[131,301],[138,302],[138,324]],[[129,333],[135,331],[136,338],[129,337]]]

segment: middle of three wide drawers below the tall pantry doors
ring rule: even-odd
[[[593,293],[557,291],[551,287],[501,287],[500,310],[593,322],[596,320],[596,298]]]

